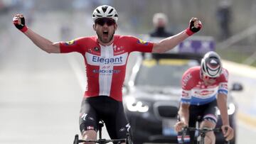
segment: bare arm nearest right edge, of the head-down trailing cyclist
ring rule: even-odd
[[[228,108],[227,108],[227,94],[218,94],[218,109],[220,109],[221,120],[223,121],[223,126],[229,126],[230,123],[228,121]]]

